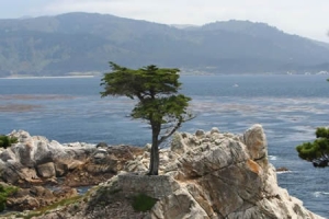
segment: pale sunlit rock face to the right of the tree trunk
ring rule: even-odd
[[[241,136],[214,130],[175,134],[162,151],[162,173],[180,186],[151,218],[320,218],[277,186],[261,125]]]

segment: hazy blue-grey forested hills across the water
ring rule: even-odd
[[[95,13],[0,20],[0,77],[155,64],[214,73],[329,70],[328,44],[264,23],[164,24]]]

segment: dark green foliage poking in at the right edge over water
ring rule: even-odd
[[[314,142],[304,142],[296,147],[298,157],[313,162],[315,166],[328,166],[329,163],[329,128],[319,127]]]

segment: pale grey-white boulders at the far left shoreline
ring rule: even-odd
[[[93,145],[67,145],[45,137],[13,131],[19,142],[0,153],[0,178],[11,184],[35,184],[63,176],[75,163],[86,162],[97,149]]]

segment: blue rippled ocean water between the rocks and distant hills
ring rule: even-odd
[[[298,158],[295,147],[315,139],[329,126],[328,76],[182,76],[182,93],[193,99],[197,115],[181,131],[242,134],[262,124],[270,161],[287,173],[280,186],[311,211],[329,217],[329,168],[315,169]],[[128,115],[135,102],[100,97],[101,78],[0,79],[0,134],[24,129],[61,143],[83,141],[145,146],[146,123]]]

